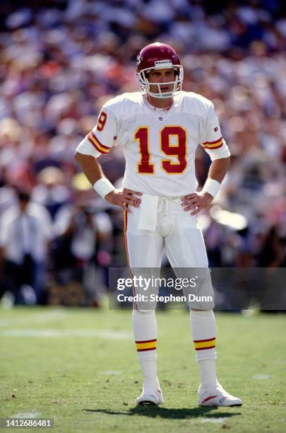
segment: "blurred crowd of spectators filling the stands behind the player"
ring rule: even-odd
[[[73,154],[106,100],[140,90],[136,55],[155,40],[179,52],[184,90],[213,101],[232,152],[199,217],[210,266],[285,266],[285,2],[2,0],[0,32],[6,301],[97,306],[108,267],[125,265],[123,214],[90,190]],[[120,147],[100,163],[120,186]],[[209,164],[198,149],[200,185]]]

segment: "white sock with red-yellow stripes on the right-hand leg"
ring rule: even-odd
[[[201,372],[201,386],[214,388],[217,384],[215,371],[215,315],[213,310],[191,311],[190,318],[196,361]]]

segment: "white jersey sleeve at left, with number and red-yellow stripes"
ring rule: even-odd
[[[119,122],[116,115],[106,103],[103,105],[100,115],[97,118],[97,124],[90,133],[78,144],[79,154],[98,156],[109,154],[116,142]]]

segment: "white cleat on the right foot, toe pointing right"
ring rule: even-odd
[[[242,400],[227,393],[218,383],[216,388],[198,387],[198,404],[200,406],[242,406]]]

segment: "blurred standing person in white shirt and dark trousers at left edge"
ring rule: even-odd
[[[0,248],[4,291],[15,304],[41,304],[52,224],[47,210],[30,202],[27,190],[18,190],[18,204],[2,214]]]

